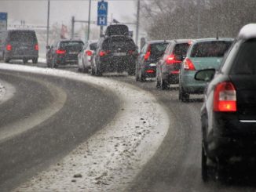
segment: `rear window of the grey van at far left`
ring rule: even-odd
[[[35,31],[11,31],[9,33],[11,42],[36,42]]]

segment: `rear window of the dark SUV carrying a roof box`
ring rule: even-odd
[[[136,45],[131,38],[115,37],[104,40],[102,49],[136,49]]]

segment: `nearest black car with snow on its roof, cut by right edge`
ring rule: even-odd
[[[234,157],[256,157],[256,24],[243,27],[221,68],[198,71],[196,80],[210,82],[201,109],[202,176],[214,162],[225,171]]]

